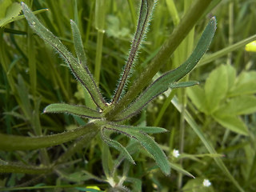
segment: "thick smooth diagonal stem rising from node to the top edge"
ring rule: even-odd
[[[211,0],[198,0],[195,2],[194,6],[187,11],[184,18],[182,18],[181,22],[174,29],[173,33],[170,35],[170,38],[168,38],[163,44],[161,50],[159,50],[158,54],[154,57],[148,68],[140,75],[138,80],[134,82],[134,86],[130,87],[130,90],[120,100],[120,102],[114,106],[113,110],[110,110],[110,112],[106,114],[107,118],[114,117],[114,115],[118,114],[121,110],[128,106],[128,104],[137,97],[143,88],[151,82],[154,74],[160,70],[161,66],[170,58],[170,55],[174,53],[174,50],[176,50],[178,45],[190,32],[195,23],[198,22],[201,15],[204,14],[204,11],[206,10],[207,6],[209,6],[210,2]]]

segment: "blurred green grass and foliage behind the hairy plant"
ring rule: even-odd
[[[18,1],[0,1],[0,19],[11,13],[14,8],[10,6],[14,2]],[[106,1],[100,10],[96,9],[98,3],[96,0],[24,2],[32,10],[49,9],[37,14],[38,19],[73,53],[70,19],[78,23],[86,49],[87,65],[98,79],[105,98],[110,99],[130,49],[140,1]],[[191,3],[193,1],[190,0],[158,1],[130,84],[145,70],[150,59],[154,58]],[[217,6],[214,6],[214,3]],[[190,77],[186,77],[198,80],[200,86],[173,93],[177,95],[182,106],[186,107],[190,118],[197,123],[206,142],[210,142],[218,154],[222,154],[222,161],[236,182],[244,191],[255,191],[256,54],[245,50],[246,42],[243,40],[249,37],[252,37],[250,41],[256,39],[254,37],[256,2],[213,1],[212,7],[213,9],[194,26],[159,74],[174,69],[186,60],[206,23],[211,16],[215,16],[218,28],[210,50]],[[237,42],[243,44],[233,47],[232,45]],[[234,51],[231,52],[232,49]],[[86,103],[90,106],[90,101],[88,103],[86,99],[88,95],[75,81],[66,64],[46,46],[41,38],[33,34],[25,19],[10,22],[0,28],[0,63],[1,133],[24,136],[46,135],[73,130],[86,124],[84,119],[65,114],[42,114],[44,107],[50,103]],[[96,63],[101,65],[95,67]],[[196,189],[196,191],[238,191],[238,187],[232,184],[234,182],[230,181],[225,171],[214,162],[214,155],[209,155],[206,145],[198,138],[194,129],[191,129],[190,123],[186,123],[185,114],[180,113],[175,105],[171,104],[173,96],[167,92],[156,98],[146,110],[142,111],[142,114],[132,118],[129,123],[132,125],[144,123],[170,130],[167,134],[154,135],[156,142],[162,146],[166,155],[169,155],[170,162],[180,164],[184,170],[193,174],[195,179],[176,171],[172,171],[170,177],[166,177],[161,171],[154,169],[154,162],[144,154],[136,154],[134,159],[137,165],[130,166],[127,170],[129,177],[134,180],[125,183],[126,186],[132,188],[130,183],[137,183],[142,185],[142,191]],[[226,117],[225,114],[230,116]],[[46,150],[0,151],[0,161],[21,162],[24,165],[47,165],[54,162],[71,143]],[[178,158],[172,154],[174,149],[179,150]],[[116,157],[117,152],[115,150],[111,152],[112,157]],[[52,174],[36,176],[22,173],[0,174],[0,186],[24,186],[25,188],[22,189],[35,186],[31,188],[35,190],[36,185],[85,184],[99,186],[104,190],[107,184],[98,182],[98,178],[102,177],[104,177],[102,146],[96,138],[87,143],[81,151],[66,159],[62,169],[55,170]],[[202,186],[205,178],[210,180],[212,184],[210,187]],[[70,189],[70,191],[75,190]]]

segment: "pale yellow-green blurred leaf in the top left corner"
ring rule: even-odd
[[[2,10],[2,6],[1,6]],[[22,6],[18,2],[12,3],[6,9],[6,16],[0,20],[0,27],[6,26],[6,24],[10,23],[13,18],[16,18],[18,14],[22,11]]]

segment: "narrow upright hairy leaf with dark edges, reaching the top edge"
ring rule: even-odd
[[[152,10],[154,8],[154,0],[142,0],[141,10],[138,18],[138,26],[137,30],[134,34],[134,41],[130,48],[130,54],[126,62],[126,67],[123,70],[122,78],[119,82],[118,88],[114,94],[114,98],[112,102],[118,102],[124,86],[126,85],[126,80],[129,78],[130,70],[133,66],[134,59],[138,54],[139,46],[141,45],[142,39],[146,34],[146,28],[149,25],[150,16],[152,14]]]

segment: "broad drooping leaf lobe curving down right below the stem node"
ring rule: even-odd
[[[158,164],[162,172],[166,175],[170,174],[170,164],[166,158],[166,154],[164,154],[164,152],[158,146],[158,143],[154,142],[154,139],[149,135],[139,130],[130,130],[118,125],[108,124],[106,127],[110,130],[117,131],[130,138],[136,139],[136,141],[139,142],[153,156],[155,162]]]

